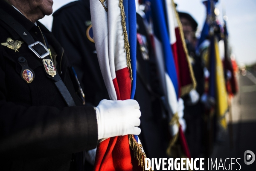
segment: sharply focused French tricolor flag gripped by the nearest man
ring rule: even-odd
[[[137,42],[135,0],[90,0],[90,12],[96,52],[109,97],[111,100],[133,99]],[[102,139],[97,147],[94,170],[140,171],[145,167],[144,158],[138,136]]]

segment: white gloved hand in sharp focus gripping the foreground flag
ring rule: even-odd
[[[98,139],[140,134],[140,106],[136,100],[102,100],[96,107]]]

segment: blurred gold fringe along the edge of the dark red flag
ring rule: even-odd
[[[192,66],[191,66],[191,64],[190,64],[190,61],[189,61],[189,52],[188,52],[188,49],[187,49],[187,47],[186,47],[186,42],[185,42],[185,37],[184,37],[184,33],[183,33],[182,24],[181,24],[181,22],[180,22],[180,17],[179,17],[179,14],[178,14],[177,10],[176,10],[175,3],[174,3],[173,0],[172,0],[172,6],[173,6],[173,9],[174,9],[174,11],[175,11],[175,15],[176,15],[177,22],[178,22],[178,25],[179,25],[180,38],[181,38],[181,41],[182,41],[183,49],[184,49],[184,51],[185,51],[185,53],[186,53],[186,60],[187,60],[187,62],[188,62],[188,64],[189,64],[189,73],[190,73],[190,77],[192,78],[192,80],[191,80],[191,81],[192,81],[192,87],[188,87],[187,89],[184,88],[184,89],[185,89],[184,91],[183,91],[183,89],[181,89],[180,96],[184,96],[184,95],[186,95],[187,93],[189,93],[190,90],[196,88],[196,81],[195,81],[194,71],[193,71]]]

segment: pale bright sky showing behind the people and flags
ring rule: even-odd
[[[53,12],[74,0],[54,0]],[[174,0],[177,10],[187,12],[198,22],[201,31],[206,18],[206,8],[202,0]],[[219,0],[216,8],[227,15],[227,29],[232,52],[239,64],[256,62],[256,0]],[[49,30],[52,28],[52,16],[40,20]]]

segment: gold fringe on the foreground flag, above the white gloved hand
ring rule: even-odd
[[[131,77],[131,82],[133,81],[132,78],[132,70],[131,70],[131,58],[130,58],[130,45],[128,41],[128,34],[126,30],[126,23],[125,23],[125,9],[123,6],[123,0],[119,0],[119,7],[121,8],[121,15],[122,15],[122,28],[123,28],[123,35],[124,35],[124,40],[125,40],[125,51],[126,51],[126,59],[127,59],[127,67],[130,70],[130,77]]]

